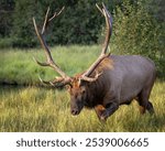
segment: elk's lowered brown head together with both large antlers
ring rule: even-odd
[[[111,28],[112,28],[111,15],[103,3],[102,3],[102,9],[98,4],[96,4],[96,7],[103,14],[103,17],[106,19],[106,25],[107,25],[106,40],[102,45],[102,51],[101,51],[99,57],[91,64],[91,66],[86,72],[84,72],[82,74],[76,75],[74,77],[67,76],[65,74],[65,72],[63,72],[57,66],[57,64],[55,63],[55,61],[53,60],[53,57],[51,55],[51,51],[50,51],[48,46],[44,40],[45,28],[47,28],[48,23],[54,18],[56,18],[57,15],[59,15],[62,13],[62,11],[64,10],[64,7],[62,8],[62,10],[59,12],[55,12],[53,14],[53,17],[51,17],[51,18],[48,18],[50,8],[47,9],[41,32],[37,29],[35,19],[33,18],[33,23],[34,23],[36,35],[37,35],[40,43],[45,52],[45,55],[46,55],[46,63],[41,63],[41,62],[36,61],[35,58],[34,60],[41,66],[52,67],[61,76],[61,77],[56,77],[54,80],[50,80],[50,82],[45,82],[41,78],[40,79],[42,83],[52,85],[54,87],[63,87],[66,85],[68,86],[67,89],[70,94],[70,111],[73,115],[78,115],[81,111],[82,107],[85,106],[85,103],[88,100],[88,96],[90,95],[88,85],[90,83],[98,80],[98,78],[102,74],[102,72],[100,72],[100,73],[96,72],[97,66],[106,57],[108,57],[110,55],[110,53],[107,53],[107,50],[108,50],[108,44],[109,44],[109,40],[111,36],[111,31],[112,31],[111,30]]]

